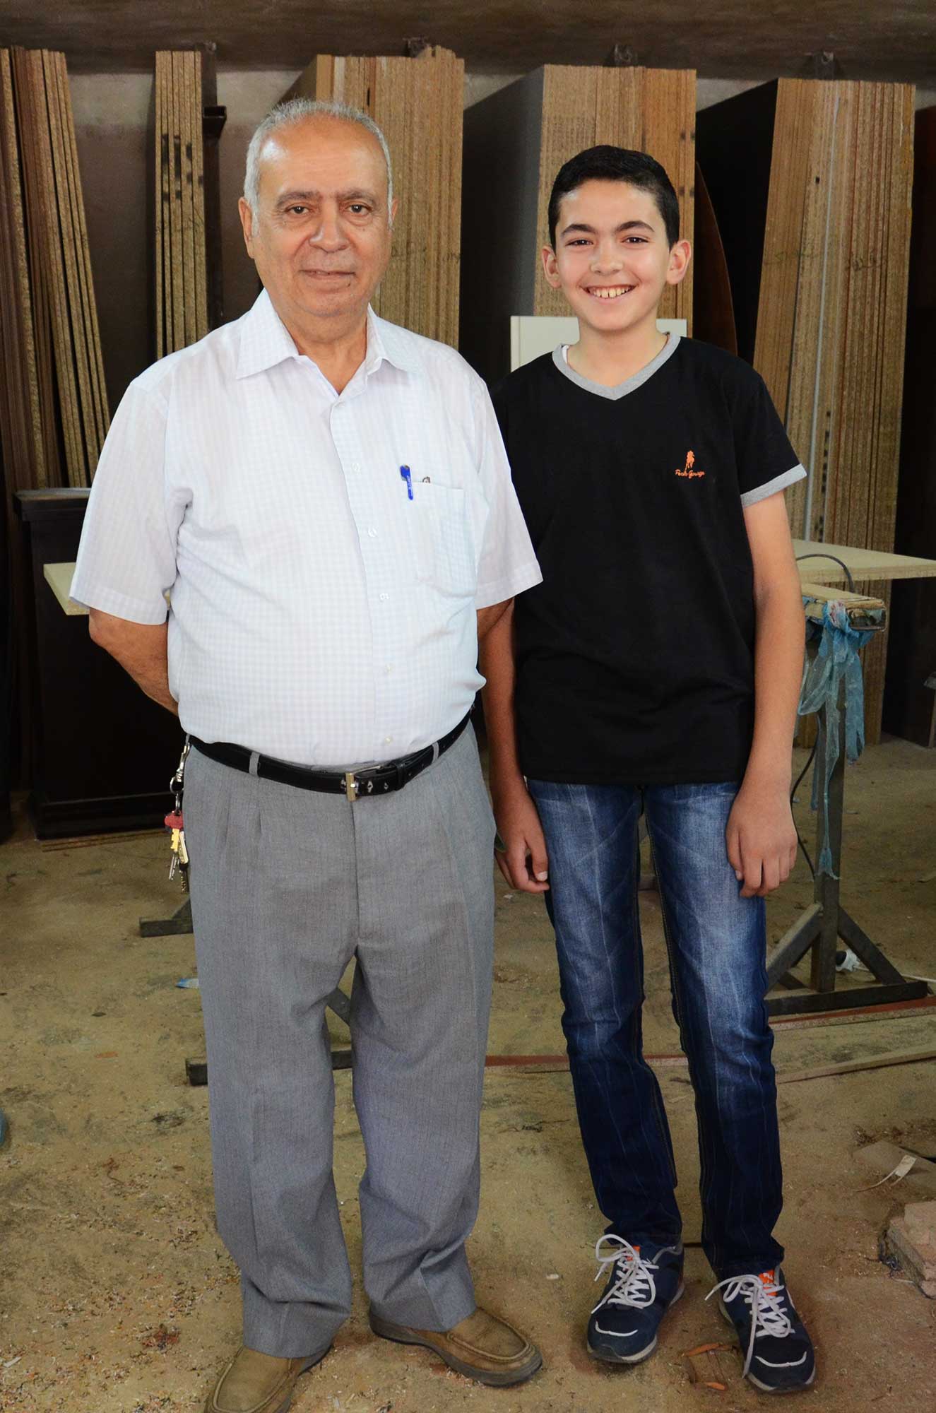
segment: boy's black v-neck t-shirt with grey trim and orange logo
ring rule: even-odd
[[[670,335],[618,389],[557,349],[492,397],[543,571],[515,605],[523,773],[739,780],[754,728],[744,506],[806,475],[762,379]]]

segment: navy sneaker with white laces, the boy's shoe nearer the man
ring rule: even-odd
[[[683,1248],[632,1246],[621,1236],[602,1236],[595,1259],[595,1280],[611,1275],[591,1311],[588,1354],[608,1364],[639,1364],[656,1349],[660,1320],[683,1293]]]

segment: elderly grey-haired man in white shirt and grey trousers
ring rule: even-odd
[[[351,1308],[324,1013],[352,957],[370,1325],[486,1383],[542,1362],[475,1306],[465,1259],[493,918],[468,712],[478,634],[540,572],[484,384],[369,309],[394,211],[365,114],[294,100],[260,124],[240,216],[264,290],[127,390],[72,588],[192,745],[218,1225],[243,1291],[208,1413],[281,1413]]]

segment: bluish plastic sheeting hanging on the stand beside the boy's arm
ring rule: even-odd
[[[803,599],[803,605],[812,602]],[[865,610],[875,623],[884,620],[884,609]],[[840,722],[844,721],[846,731],[846,759],[850,764],[858,759],[864,750],[864,680],[861,677],[861,660],[858,653],[872,637],[875,629],[857,629],[848,622],[848,613],[840,599],[823,603],[821,619],[806,619],[806,643],[819,639],[816,653],[807,650],[803,667],[803,684],[799,697],[799,715],[809,716],[817,714],[819,742],[817,755],[826,762],[823,791],[823,831],[821,849],[819,853],[817,870],[837,877],[831,866],[831,848],[829,844],[829,781],[836,769],[836,762],[841,752]],[[838,712],[838,688],[846,684],[844,712]],[[823,706],[826,711],[823,712]],[[826,726],[829,739],[826,740]],[[824,746],[824,752],[823,752]],[[813,810],[819,805],[819,770],[813,773]]]

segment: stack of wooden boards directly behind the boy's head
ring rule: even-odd
[[[465,113],[461,349],[488,380],[509,372],[513,314],[568,314],[546,283],[547,208],[556,174],[599,143],[648,151],[669,172],[680,233],[693,239],[693,69],[546,65]],[[669,290],[663,318],[691,332],[693,270]]]

